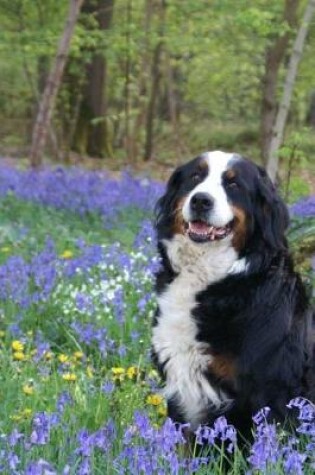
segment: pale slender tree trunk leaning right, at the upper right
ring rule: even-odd
[[[276,118],[276,123],[273,130],[273,136],[270,143],[267,172],[274,182],[277,176],[279,156],[278,151],[283,140],[284,128],[288,117],[289,107],[292,98],[293,87],[296,80],[296,74],[298,65],[302,57],[306,35],[310,26],[312,16],[315,12],[315,0],[309,0],[305,13],[302,19],[302,23],[298,34],[296,36],[288,71],[284,83],[283,94],[279,106],[279,111]]]

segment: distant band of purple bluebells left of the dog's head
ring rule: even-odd
[[[160,183],[134,178],[126,172],[114,180],[103,172],[78,168],[37,171],[0,168],[0,196],[13,192],[23,200],[68,209],[79,215],[98,213],[106,227],[111,226],[123,208],[151,212],[163,190]]]

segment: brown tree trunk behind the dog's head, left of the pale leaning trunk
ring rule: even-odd
[[[283,20],[292,29],[296,26],[296,12],[299,0],[286,0]],[[277,82],[280,66],[283,63],[290,32],[279,36],[266,50],[265,75],[263,77],[263,97],[261,108],[261,156],[266,165],[272,138],[272,128],[277,112]]]

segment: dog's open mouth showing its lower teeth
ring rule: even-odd
[[[233,222],[226,226],[216,227],[205,221],[190,221],[186,226],[186,233],[194,242],[220,241],[232,232]]]

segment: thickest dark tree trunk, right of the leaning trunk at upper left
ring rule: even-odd
[[[111,26],[113,8],[114,0],[106,2],[104,0],[86,0],[82,13],[93,14],[98,28],[104,31]],[[86,65],[79,120],[74,136],[75,145],[77,143],[82,145],[82,137],[85,137],[83,148],[91,157],[104,157],[111,154],[105,117],[107,111],[106,79],[106,58],[103,52],[96,52]],[[93,123],[94,120],[96,123]],[[80,152],[83,152],[82,147]]]

